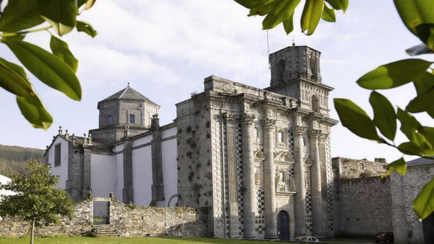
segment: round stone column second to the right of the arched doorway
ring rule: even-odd
[[[313,235],[323,234],[323,212],[321,196],[321,161],[318,148],[321,131],[316,129],[309,130],[310,136],[310,158],[312,160],[311,171],[311,196],[312,196],[312,225]],[[325,189],[326,190],[326,189]]]

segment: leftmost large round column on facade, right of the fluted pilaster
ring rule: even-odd
[[[256,238],[254,218],[257,209],[256,192],[254,185],[253,163],[253,120],[255,116],[244,114],[242,123],[242,148],[243,148],[243,187],[244,187],[244,238]]]

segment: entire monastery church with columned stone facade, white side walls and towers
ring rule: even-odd
[[[328,93],[320,52],[270,54],[264,89],[210,76],[204,91],[160,126],[158,109],[131,87],[98,103],[99,128],[59,129],[45,152],[75,201],[114,197],[142,206],[208,209],[219,238],[333,236]]]

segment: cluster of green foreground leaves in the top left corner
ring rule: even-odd
[[[91,8],[94,3],[95,0],[9,0],[3,11],[0,9],[0,43],[5,44],[40,81],[80,101],[81,86],[75,75],[78,60],[72,55],[68,44],[51,34],[50,53],[23,39],[27,34],[49,29],[62,36],[74,28],[95,37],[97,32],[89,23],[76,20],[79,12]],[[34,28],[44,22],[49,26]],[[33,127],[44,130],[50,127],[53,118],[26,71],[1,57],[0,87],[16,95],[21,113]]]

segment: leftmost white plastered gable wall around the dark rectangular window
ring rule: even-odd
[[[54,167],[54,151],[57,144],[60,146],[60,165]],[[66,180],[68,179],[68,141],[57,137],[48,151],[48,163],[51,166],[51,174],[60,176],[56,188],[66,189]]]

